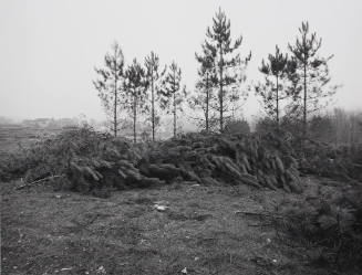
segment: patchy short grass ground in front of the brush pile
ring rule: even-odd
[[[15,184],[1,184],[2,274],[343,274],[238,212],[296,194],[178,183],[101,199]]]

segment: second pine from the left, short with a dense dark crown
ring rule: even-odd
[[[147,77],[144,68],[136,59],[127,67],[125,72],[125,91],[126,91],[126,107],[131,113],[133,119],[133,141],[137,141],[137,114],[138,112],[145,113],[146,106],[146,89],[148,87]]]

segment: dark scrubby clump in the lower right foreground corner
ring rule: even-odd
[[[318,247],[318,261],[362,267],[362,184],[319,186],[306,197],[279,205],[277,229],[296,242]]]

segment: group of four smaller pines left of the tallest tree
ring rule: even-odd
[[[134,142],[137,138],[137,117],[141,114],[151,114],[152,138],[155,140],[155,130],[159,124],[158,107],[174,115],[174,136],[176,136],[176,113],[182,105],[182,71],[173,62],[161,68],[159,57],[151,52],[144,64],[136,59],[125,66],[124,55],[118,43],[114,43],[113,53],[105,55],[104,68],[95,68],[99,78],[93,82],[99,96],[111,120],[111,130],[114,136],[121,128],[121,115],[126,110],[133,120]]]

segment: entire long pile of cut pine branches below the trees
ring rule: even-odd
[[[2,178],[23,177],[27,184],[62,177],[72,190],[81,192],[174,181],[248,184],[288,192],[303,189],[292,149],[272,135],[187,134],[163,142],[133,145],[91,128],[72,129],[37,142],[1,171]]]

